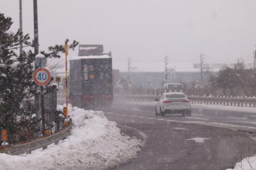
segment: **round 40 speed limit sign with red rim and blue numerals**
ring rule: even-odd
[[[51,80],[51,73],[46,68],[37,68],[33,73],[33,79],[37,85],[47,85]]]

